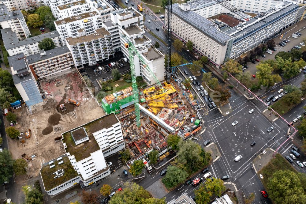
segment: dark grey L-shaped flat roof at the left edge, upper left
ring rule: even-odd
[[[60,36],[57,31],[47,32],[42,35],[26,38],[24,40],[18,40],[18,37],[15,32],[12,31],[11,28],[1,29],[2,39],[4,43],[4,47],[8,49],[12,49],[14,47],[23,46],[30,43],[40,42],[45,38],[54,38]]]

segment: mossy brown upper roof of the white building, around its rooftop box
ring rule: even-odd
[[[113,124],[116,123],[119,123],[119,120],[117,119],[114,113],[111,113],[109,115],[104,115],[101,118],[95,119],[89,123],[80,126],[85,128],[89,141],[82,142],[78,145],[75,145],[71,136],[71,132],[79,129],[80,127],[76,127],[73,130],[69,130],[68,132],[63,133],[62,141],[66,143],[66,152],[69,152],[71,156],[74,155],[76,161],[81,161],[85,158],[88,158],[91,153],[100,149],[97,141],[93,136],[93,133],[104,128],[110,128]]]

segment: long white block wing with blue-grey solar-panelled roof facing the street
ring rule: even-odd
[[[185,43],[192,41],[195,50],[215,64],[222,64],[224,60],[229,59],[233,37],[221,32],[217,25],[190,10],[188,3],[172,5],[172,32]]]

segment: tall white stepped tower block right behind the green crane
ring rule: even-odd
[[[134,66],[136,76],[142,76],[149,84],[156,83],[154,77],[164,80],[164,55],[151,45],[151,40],[144,35],[144,16],[136,9],[118,10],[110,14],[114,25],[118,25],[119,36],[121,39],[121,51],[129,59],[129,51],[125,46],[131,41],[140,53],[134,56]],[[142,63],[143,58],[146,64]]]

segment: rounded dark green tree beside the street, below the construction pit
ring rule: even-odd
[[[177,184],[184,182],[187,177],[188,173],[184,170],[175,166],[169,166],[167,168],[166,176],[162,178],[162,183],[164,183],[167,188],[172,188]]]

